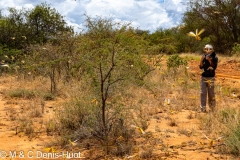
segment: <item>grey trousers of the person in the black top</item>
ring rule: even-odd
[[[207,95],[208,105],[213,111],[216,106],[215,92],[214,92],[214,77],[201,77],[201,90],[200,90],[200,108],[202,111],[206,111]]]

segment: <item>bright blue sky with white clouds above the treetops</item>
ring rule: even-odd
[[[46,1],[46,0],[45,0]],[[33,8],[44,0],[0,0],[0,9],[7,15],[7,8]],[[88,16],[101,16],[116,21],[131,22],[134,28],[154,32],[158,28],[171,28],[181,23],[186,11],[186,0],[48,0],[52,8],[64,16],[75,31],[83,28]]]

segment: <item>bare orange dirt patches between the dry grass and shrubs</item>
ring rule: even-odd
[[[188,61],[189,71],[195,75],[196,80],[199,80],[200,76],[198,63],[197,60]],[[240,93],[238,91],[238,89],[240,89],[239,61],[227,58],[220,60],[216,73],[216,83],[218,85],[235,88],[236,94]],[[45,130],[44,126],[35,125],[38,132],[36,132],[34,137],[28,137],[25,136],[23,132],[18,132],[19,125],[13,121],[16,117],[11,113],[17,112],[14,115],[21,115],[18,112],[21,112],[21,109],[24,111],[24,109],[27,108],[27,106],[24,105],[26,104],[26,100],[8,99],[3,96],[3,91],[16,85],[21,84],[18,83],[15,77],[0,77],[0,159],[64,159],[62,155],[46,155],[46,151],[44,152],[46,143],[55,138],[51,135],[42,134]],[[231,95],[229,95],[229,98],[231,98]],[[44,124],[44,119],[48,120],[52,118],[53,106],[56,106],[59,101],[62,100],[57,99],[55,101],[45,102],[46,107],[45,114],[42,117],[42,124]],[[239,105],[240,99],[237,98],[234,102],[235,105]],[[156,157],[154,159],[232,159],[229,155],[221,155],[217,152],[217,149],[223,145],[221,139],[214,141],[213,147],[209,147],[210,140],[208,140],[204,134],[201,134],[203,131],[199,127],[199,119],[196,118],[198,114],[199,113],[192,110],[181,110],[179,112],[160,111],[155,117],[161,117],[161,119],[151,118],[149,120],[149,126],[145,130],[145,136],[151,134],[152,138],[148,139],[148,145],[154,143],[156,146],[152,153]],[[204,116],[204,113],[200,114]],[[174,125],[174,121],[172,125],[169,125],[169,118],[177,121],[177,125]],[[33,118],[33,123],[39,122],[39,119],[40,118]],[[28,124],[26,123],[26,125]],[[219,137],[213,138],[217,139]],[[156,145],[158,141],[164,141],[164,143]],[[143,143],[141,137],[138,139],[137,143]],[[147,148],[148,146],[146,146],[145,149],[147,150]],[[69,154],[69,159],[88,159],[87,152],[81,152],[81,156],[77,153],[79,152],[75,149],[68,151],[68,153],[65,152],[64,154]],[[49,158],[49,156],[52,157]],[[125,159],[137,159],[134,158],[134,156],[135,155],[129,155],[129,157]]]

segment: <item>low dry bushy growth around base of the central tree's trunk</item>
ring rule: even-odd
[[[116,109],[116,108],[111,108]],[[102,131],[102,121],[101,121],[101,108],[99,107],[99,101],[89,96],[84,96],[76,98],[71,102],[67,103],[63,110],[57,112],[58,124],[60,124],[58,130],[61,131],[61,143],[66,145],[69,143],[69,139],[79,139],[80,141],[88,141],[88,139],[97,139],[103,145],[103,150],[107,153],[122,155],[125,150],[118,148],[116,141],[119,137],[124,137],[124,144],[129,145],[129,140],[133,129],[127,125],[127,117],[124,117],[124,111],[122,109],[115,110],[111,112],[115,118],[108,119],[112,121],[112,126],[107,128],[108,136],[105,139]],[[84,144],[83,144],[84,145]],[[111,149],[108,147],[111,146]],[[117,148],[117,151],[113,149]],[[128,147],[131,147],[128,146]],[[127,148],[128,148],[127,147]],[[128,149],[131,151],[131,148]]]

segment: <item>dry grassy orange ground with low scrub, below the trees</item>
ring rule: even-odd
[[[51,137],[42,149],[80,151],[88,159],[238,157],[240,103],[231,94],[239,94],[239,82],[224,85],[217,78],[216,110],[198,113],[199,74],[191,65],[198,55],[165,55],[157,58],[158,65],[156,58],[147,57],[142,59],[151,72],[141,83],[118,84],[117,91],[109,93],[113,96],[106,100],[106,130],[91,78],[71,78],[68,83],[59,79],[58,91],[49,93],[51,80],[46,77],[4,74],[1,93],[13,138]],[[223,57],[219,68],[226,61],[231,59]]]

